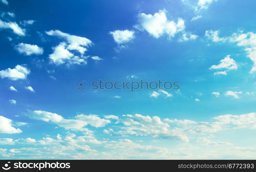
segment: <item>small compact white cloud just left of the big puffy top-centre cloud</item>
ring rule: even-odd
[[[127,43],[135,38],[134,31],[130,31],[127,29],[126,30],[115,30],[113,32],[109,32],[109,34],[112,35],[112,37],[114,38],[114,41],[117,44]]]

